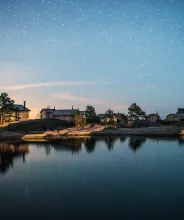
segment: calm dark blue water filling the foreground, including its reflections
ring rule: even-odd
[[[0,142],[0,216],[184,219],[184,141]]]

